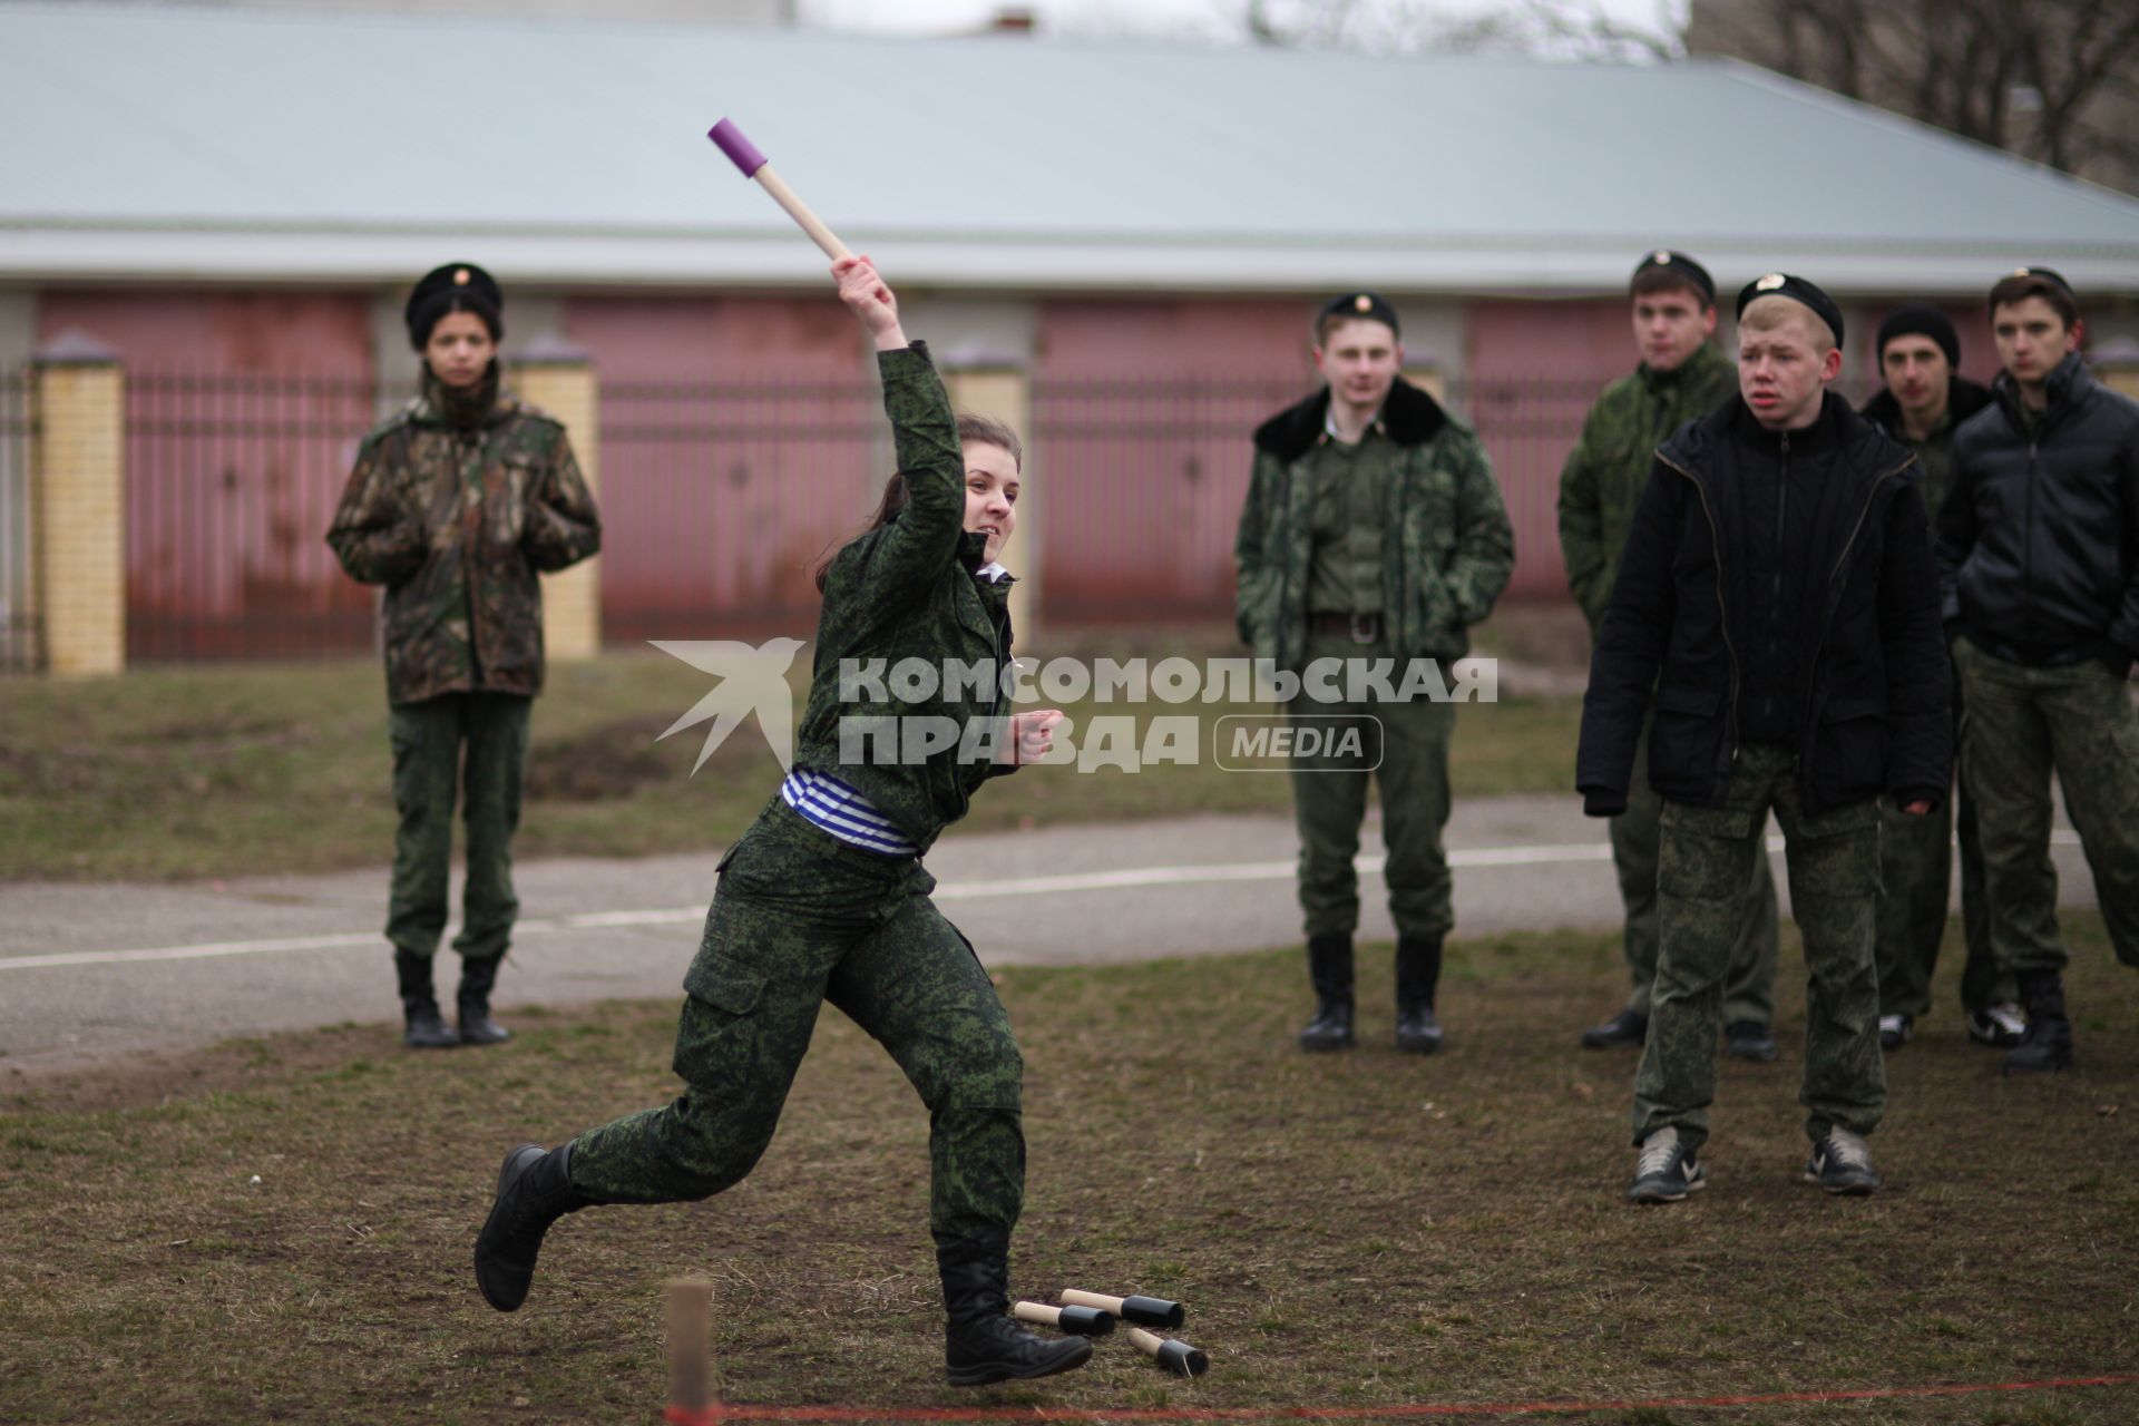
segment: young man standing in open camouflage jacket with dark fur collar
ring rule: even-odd
[[[1493,609],[1514,569],[1514,532],[1478,434],[1397,374],[1397,312],[1382,297],[1333,299],[1315,321],[1315,366],[1328,385],[1256,430],[1234,541],[1236,624],[1256,656],[1279,669],[1395,661],[1401,680],[1410,661],[1446,665],[1469,652],[1469,626]],[[1365,757],[1292,765],[1315,990],[1301,1048],[1352,1043],[1352,857],[1371,776],[1382,789],[1384,879],[1397,921],[1397,1048],[1429,1054],[1442,1043],[1433,998],[1455,924],[1442,851],[1455,703],[1330,703],[1303,691],[1286,712],[1294,727],[1371,733]]]

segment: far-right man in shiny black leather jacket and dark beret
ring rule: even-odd
[[[1961,785],[1979,808],[1991,954],[2026,1039],[2004,1069],[2073,1063],[2049,859],[2049,776],[2094,872],[2118,960],[2139,966],[2139,402],[2088,374],[2079,299],[2056,272],[1991,286],[2004,370],[1953,436],[1938,511],[1953,667],[1968,699]]]

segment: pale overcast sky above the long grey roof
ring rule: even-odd
[[[798,0],[804,24],[841,30],[943,32],[975,30],[1005,9],[1029,9],[1044,34],[1155,34],[1172,38],[1236,41],[1247,0]],[[1480,15],[1493,4],[1461,0],[1358,0],[1382,24],[1390,17]],[[1656,28],[1677,0],[1589,0],[1619,24]],[[1318,0],[1271,0],[1281,21],[1324,9]],[[1570,6],[1574,9],[1574,6]]]

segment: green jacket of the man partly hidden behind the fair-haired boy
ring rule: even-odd
[[[1559,554],[1568,590],[1596,631],[1619,577],[1619,554],[1634,528],[1641,487],[1649,483],[1656,447],[1675,430],[1737,396],[1730,357],[1703,342],[1671,372],[1636,368],[1604,387],[1583,419],[1583,434],[1559,470]]]

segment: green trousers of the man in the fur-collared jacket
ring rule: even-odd
[[[1388,658],[1388,644],[1311,635],[1309,658]],[[1401,678],[1403,669],[1397,669]],[[1324,703],[1305,693],[1286,703],[1292,727],[1358,729],[1360,755],[1292,759],[1292,819],[1301,832],[1301,917],[1309,936],[1348,936],[1358,928],[1358,830],[1367,821],[1367,782],[1382,791],[1382,844],[1388,857],[1388,915],[1403,936],[1444,936],[1455,926],[1448,853],[1448,740],[1455,703]]]

